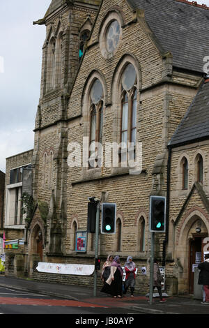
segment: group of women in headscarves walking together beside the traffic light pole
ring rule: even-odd
[[[118,255],[115,257],[109,255],[107,261],[102,267],[101,278],[104,283],[101,292],[105,292],[112,297],[121,298],[126,294],[130,287],[131,297],[134,297],[134,286],[136,278],[136,265],[133,262],[132,256],[128,256],[124,265],[125,269],[125,284],[123,285],[123,268]]]

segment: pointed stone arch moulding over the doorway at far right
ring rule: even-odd
[[[182,243],[182,240],[185,240],[185,234],[189,232],[192,223],[196,221],[196,217],[199,216],[206,227],[209,226],[209,214],[201,209],[201,207],[194,206],[191,209],[187,210],[185,216],[180,220],[180,224],[177,225],[176,230],[176,244],[179,245]]]

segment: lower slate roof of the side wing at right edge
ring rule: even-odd
[[[209,80],[203,83],[185,117],[171,137],[169,146],[195,142],[209,137]]]

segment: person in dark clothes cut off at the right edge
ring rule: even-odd
[[[202,304],[209,304],[209,253],[205,255],[205,261],[201,262],[198,265],[199,272],[199,279],[198,284],[203,285],[203,290],[205,295],[203,294],[203,301]],[[206,300],[204,301],[204,296]]]

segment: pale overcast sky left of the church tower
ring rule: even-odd
[[[0,170],[3,172],[6,157],[33,149],[45,40],[45,25],[33,25],[33,21],[44,17],[50,3],[51,0],[0,0]],[[209,0],[198,3],[209,6]]]

